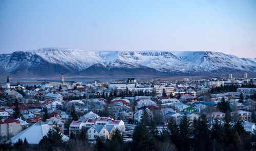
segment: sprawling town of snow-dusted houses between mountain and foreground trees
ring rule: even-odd
[[[211,129],[240,126],[241,133],[256,138],[256,78],[247,73],[241,78],[81,82],[65,81],[62,72],[60,80],[33,86],[9,78],[0,88],[2,147],[44,144],[52,130],[62,142],[79,139],[99,146],[121,136],[129,143],[141,125],[155,127],[158,138],[175,125],[182,131],[185,120],[192,125],[206,120]],[[255,147],[255,140],[248,142]]]

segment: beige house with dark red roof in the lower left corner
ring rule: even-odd
[[[18,134],[21,131],[22,126],[18,120],[10,117],[6,120],[0,120],[1,139],[8,140],[10,137]]]

